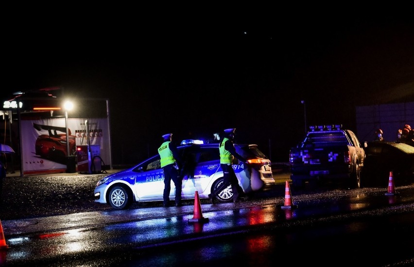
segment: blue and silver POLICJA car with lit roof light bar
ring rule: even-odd
[[[208,198],[223,183],[218,143],[184,140],[177,147],[183,159],[181,197]],[[243,192],[258,191],[266,183],[275,183],[271,162],[255,144],[235,144],[236,151],[247,159],[248,164],[237,162],[233,169]],[[237,160],[237,159],[236,159]],[[171,182],[170,200],[174,199],[175,187]],[[95,202],[110,204],[114,209],[125,209],[133,202],[162,201],[164,173],[159,155],[150,157],[135,167],[113,173],[98,181],[94,190]],[[219,202],[231,202],[231,186],[216,193]]]

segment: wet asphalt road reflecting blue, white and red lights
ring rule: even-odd
[[[293,196],[295,209],[281,209],[279,197],[203,204],[207,223],[189,222],[189,205],[4,221],[10,248],[0,262],[211,266],[240,260],[244,266],[274,266],[288,258],[319,266],[410,266],[413,188],[400,187],[397,196],[376,188],[300,194]]]

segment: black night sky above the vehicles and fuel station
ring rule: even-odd
[[[414,100],[413,16],[88,12],[11,22],[1,94],[60,86],[109,99],[113,157],[155,154],[168,132],[178,142],[236,127],[287,161],[301,100],[308,125],[347,128],[356,106]]]

